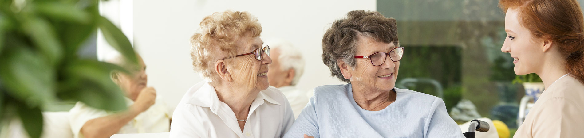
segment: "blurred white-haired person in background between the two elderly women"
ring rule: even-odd
[[[298,49],[293,47],[290,42],[275,40],[266,41],[273,49],[272,64],[267,72],[267,80],[270,86],[280,89],[290,102],[294,118],[300,115],[300,112],[308,103],[305,91],[298,90],[295,86],[304,72],[304,59]]]

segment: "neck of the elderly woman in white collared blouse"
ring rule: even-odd
[[[215,87],[219,101],[227,104],[237,119],[247,119],[249,107],[258,96],[259,91],[244,90],[230,84],[219,84]]]

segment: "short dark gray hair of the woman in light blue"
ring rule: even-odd
[[[322,37],[322,62],[331,69],[331,76],[350,83],[340,72],[337,60],[355,66],[354,56],[359,36],[399,45],[394,18],[387,18],[376,11],[353,10],[345,18],[335,20]]]

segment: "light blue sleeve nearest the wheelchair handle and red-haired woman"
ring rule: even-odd
[[[436,98],[432,103],[432,108],[430,109],[430,114],[428,119],[430,119],[428,128],[426,129],[425,137],[463,137],[463,132],[460,127],[456,125],[456,122],[448,112],[446,111],[446,105],[442,98]]]

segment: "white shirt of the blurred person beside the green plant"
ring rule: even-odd
[[[154,105],[124,125],[118,133],[126,134],[169,132],[172,112],[161,99],[162,98],[157,97]],[[126,98],[126,105],[129,107],[132,104],[134,104],[134,101],[130,100],[130,98]],[[85,122],[91,119],[113,114],[114,112],[103,111],[101,109],[89,107],[83,102],[77,102],[75,107],[69,111],[69,122],[71,123],[71,130],[74,134],[74,137],[84,137],[80,133],[80,130],[83,125],[85,125]]]

